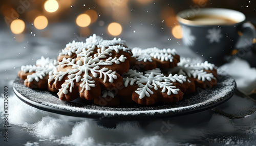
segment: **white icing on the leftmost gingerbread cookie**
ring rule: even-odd
[[[47,75],[53,75],[55,72],[57,72],[57,68],[57,60],[45,58],[42,56],[41,59],[36,61],[36,65],[22,66],[21,70],[26,73],[35,71],[32,75],[28,75],[27,79],[28,82],[33,82],[34,80],[38,82],[39,79],[42,79]]]

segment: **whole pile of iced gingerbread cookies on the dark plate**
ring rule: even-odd
[[[59,99],[80,97],[99,106],[173,103],[184,94],[217,84],[214,64],[182,58],[175,49],[130,49],[124,40],[90,36],[71,42],[57,60],[41,57],[22,66],[25,86],[57,92]]]

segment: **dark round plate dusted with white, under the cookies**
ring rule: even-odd
[[[24,80],[18,77],[14,80],[13,90],[17,97],[26,104],[49,112],[97,119],[138,120],[194,113],[220,105],[231,98],[236,89],[236,82],[221,70],[218,70],[218,75],[218,84],[211,89],[199,90],[194,94],[186,95],[182,101],[177,103],[159,103],[153,106],[133,104],[100,107],[79,98],[72,102],[61,101],[56,93],[26,87],[23,84]]]

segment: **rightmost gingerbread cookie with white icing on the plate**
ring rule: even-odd
[[[214,64],[198,62],[195,60],[181,58],[178,66],[169,68],[168,74],[178,74],[187,76],[195,85],[200,88],[210,88],[217,84],[217,70]]]

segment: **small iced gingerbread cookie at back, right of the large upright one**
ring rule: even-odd
[[[166,69],[177,66],[180,56],[175,49],[157,47],[141,49],[133,48],[133,60],[130,61],[131,68],[139,71],[151,70],[154,68]]]

